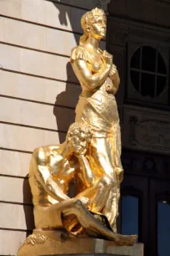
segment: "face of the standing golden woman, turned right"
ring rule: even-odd
[[[99,16],[91,25],[90,34],[92,37],[102,39],[106,36],[107,19],[105,16]]]

